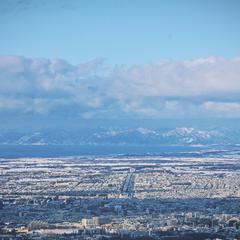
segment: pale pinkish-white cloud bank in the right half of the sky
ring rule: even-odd
[[[239,59],[208,58],[120,69],[112,78],[119,98],[129,93],[134,97],[196,97],[239,92],[239,76]]]

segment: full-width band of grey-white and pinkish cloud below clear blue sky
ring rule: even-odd
[[[0,112],[83,118],[240,117],[240,58],[106,68],[0,56]]]

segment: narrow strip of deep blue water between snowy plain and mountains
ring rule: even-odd
[[[90,146],[90,145],[0,145],[0,158],[67,157],[80,155],[194,155],[205,146]],[[185,152],[185,153],[183,153]]]

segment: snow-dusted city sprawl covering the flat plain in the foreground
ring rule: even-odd
[[[0,239],[239,239],[240,162],[1,159]]]

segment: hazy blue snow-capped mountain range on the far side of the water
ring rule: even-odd
[[[30,133],[4,132],[0,144],[15,145],[212,145],[238,144],[239,130],[212,130],[192,127],[173,129],[101,128],[89,132],[38,131]]]

